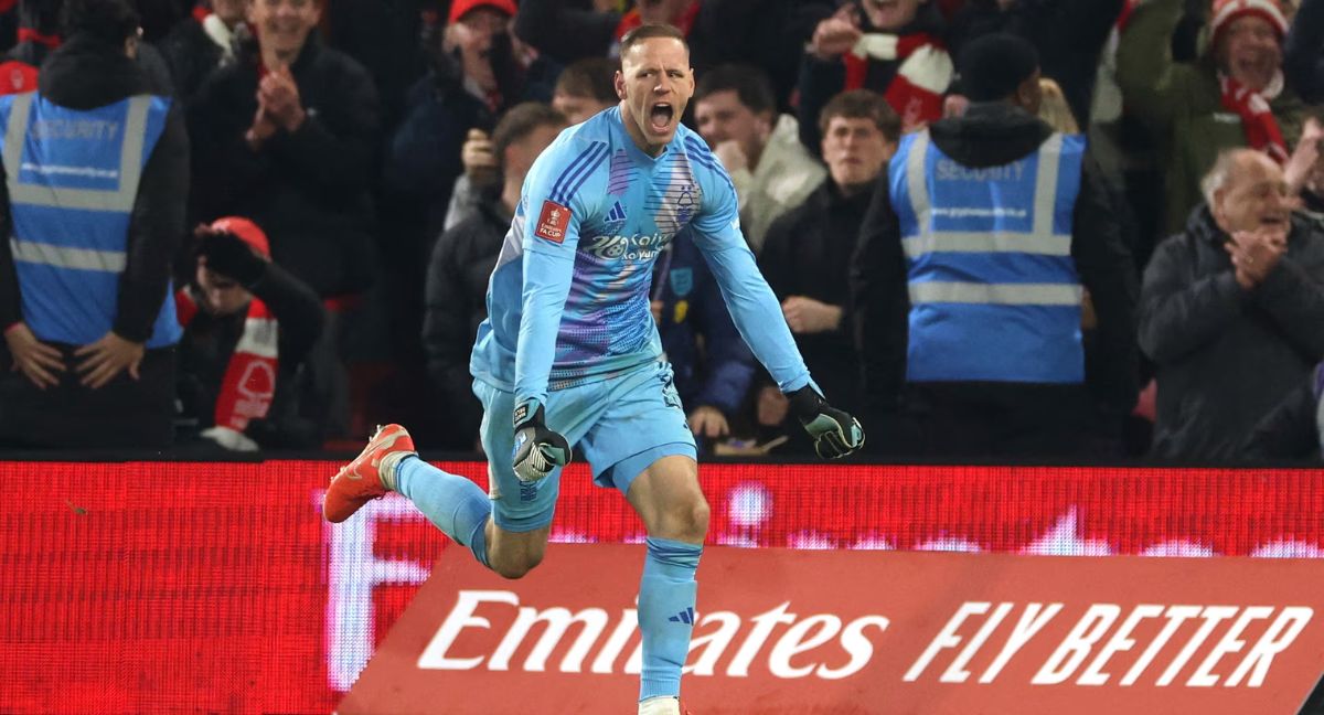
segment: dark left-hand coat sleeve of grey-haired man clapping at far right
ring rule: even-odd
[[[1247,299],[1229,267],[1192,278],[1192,238],[1161,244],[1140,289],[1140,348],[1156,363],[1173,363],[1218,338]]]

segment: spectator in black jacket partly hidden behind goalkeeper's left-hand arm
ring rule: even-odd
[[[489,193],[478,213],[437,241],[428,267],[422,343],[428,375],[448,405],[445,434],[459,438],[451,449],[471,449],[478,440],[482,406],[474,397],[469,352],[478,323],[487,316],[487,278],[510,230],[524,175],[534,159],[565,128],[565,117],[547,105],[511,107],[493,132],[503,176],[499,195]]]

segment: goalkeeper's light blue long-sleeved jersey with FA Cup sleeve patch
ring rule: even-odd
[[[620,107],[567,128],[538,158],[487,283],[473,375],[545,404],[563,389],[662,355],[649,312],[653,263],[691,230],[736,327],[784,391],[808,384],[768,283],[740,233],[736,192],[707,144],[685,126],[657,158]]]

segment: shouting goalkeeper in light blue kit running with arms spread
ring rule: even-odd
[[[483,403],[489,494],[377,432],[327,491],[342,522],[399,491],[483,565],[519,579],[547,548],[560,467],[577,445],[647,530],[639,585],[641,714],[679,712],[694,577],[708,528],[694,436],[649,312],[653,262],[688,226],[753,354],[822,457],[865,441],[828,406],[740,233],[736,195],[708,147],[679,124],[694,93],[688,48],[669,25],[621,41],[617,107],[576,124],[534,163],[487,287],[470,369]]]

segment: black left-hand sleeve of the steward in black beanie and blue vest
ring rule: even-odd
[[[863,371],[865,404],[874,412],[898,408],[906,381],[910,293],[902,229],[887,173],[874,187],[850,261],[850,295]]]

